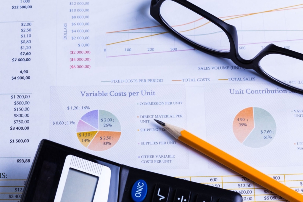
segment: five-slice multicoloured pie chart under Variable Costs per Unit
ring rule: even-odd
[[[77,124],[77,137],[86,148],[104,151],[113,147],[121,135],[119,120],[105,110],[93,110],[84,114]]]

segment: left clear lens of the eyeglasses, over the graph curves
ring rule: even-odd
[[[172,29],[185,38],[218,52],[230,51],[230,43],[225,32],[190,9],[167,0],[161,5],[160,15]]]

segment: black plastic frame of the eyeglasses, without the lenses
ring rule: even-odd
[[[303,54],[276,46],[274,44],[269,44],[264,49],[262,49],[253,59],[250,59],[250,60],[243,59],[243,58],[241,58],[241,56],[239,55],[239,52],[238,52],[238,34],[237,34],[237,29],[235,28],[235,26],[227,24],[223,20],[217,18],[214,15],[211,15],[210,13],[208,13],[205,10],[203,10],[202,8],[199,8],[198,6],[192,4],[191,2],[188,2],[186,0],[170,0],[170,1],[174,1],[188,9],[190,9],[191,11],[197,13],[198,15],[201,15],[205,19],[209,20],[210,22],[214,23],[219,28],[221,28],[228,37],[228,40],[230,43],[230,51],[229,52],[220,52],[220,51],[216,51],[216,50],[201,46],[198,43],[195,43],[194,41],[191,41],[190,39],[181,35],[179,32],[175,31],[171,26],[169,26],[167,22],[165,22],[165,20],[162,18],[161,14],[160,14],[160,7],[164,1],[166,1],[166,0],[151,0],[150,14],[163,27],[168,29],[171,33],[173,33],[175,36],[177,36],[183,42],[187,43],[188,45],[191,45],[195,49],[208,53],[212,56],[231,59],[231,61],[234,62],[236,65],[243,67],[245,69],[253,69],[256,72],[258,72],[259,74],[268,78],[273,83],[277,84],[278,86],[281,86],[283,88],[286,88],[286,89],[291,90],[296,93],[303,94],[303,89],[299,89],[294,86],[288,85],[287,83],[281,82],[280,80],[278,80],[278,79],[270,76],[268,73],[266,73],[259,65],[261,59],[269,54],[280,54],[280,55],[292,57],[292,58],[299,59],[299,60],[303,60]]]

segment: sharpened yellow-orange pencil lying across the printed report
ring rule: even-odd
[[[163,126],[163,128],[171,133],[171,135],[176,139],[200,151],[201,153],[204,153],[206,156],[211,157],[219,163],[222,163],[231,170],[240,173],[244,177],[247,177],[262,187],[265,187],[266,189],[274,192],[275,194],[278,194],[288,201],[303,202],[303,195],[299,194],[295,190],[292,190],[291,188],[269,177],[268,175],[265,175],[264,173],[261,173],[246,163],[236,159],[235,157],[232,157],[228,153],[225,153],[217,147],[205,142],[204,140],[201,140],[183,128],[173,126],[168,123],[163,123],[159,120],[155,121]]]

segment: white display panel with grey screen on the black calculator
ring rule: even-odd
[[[110,179],[109,167],[68,155],[54,202],[108,202]]]

